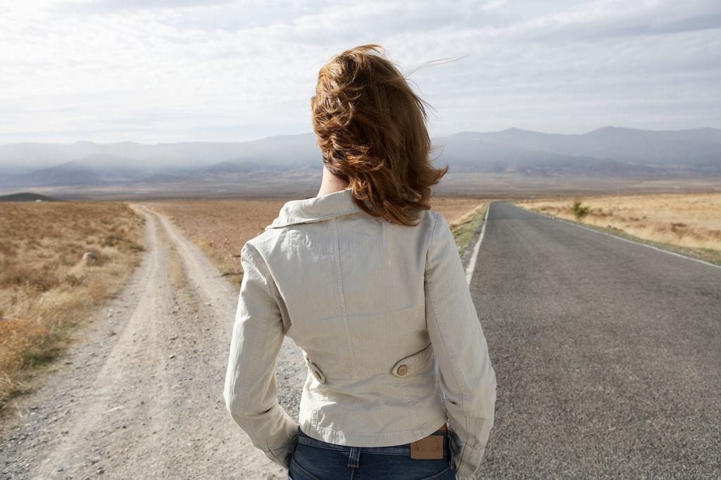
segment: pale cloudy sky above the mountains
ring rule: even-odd
[[[718,0],[0,0],[0,143],[310,132],[318,69],[363,43],[432,135],[721,128]]]

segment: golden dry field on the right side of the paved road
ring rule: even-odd
[[[581,215],[572,208],[575,201]],[[517,205],[644,240],[711,251],[705,252],[711,257],[721,252],[721,193],[559,197]]]

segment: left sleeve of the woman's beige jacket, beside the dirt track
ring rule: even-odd
[[[298,424],[278,404],[275,360],[283,345],[283,321],[275,284],[262,259],[246,244],[224,397],[235,422],[268,458],[288,468]]]

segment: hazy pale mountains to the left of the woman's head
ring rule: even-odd
[[[0,146],[0,186],[6,187],[191,182],[204,175],[277,172],[309,166],[320,168],[320,153],[311,133],[234,143]]]

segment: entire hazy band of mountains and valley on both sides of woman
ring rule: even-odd
[[[450,166],[441,192],[472,193],[484,182],[525,192],[721,177],[716,128],[604,127],[580,135],[510,128],[456,133],[434,138],[433,145],[435,164]],[[0,146],[0,192],[301,195],[316,187],[321,164],[312,133],[232,143],[10,143]],[[718,190],[713,182],[702,185]]]

